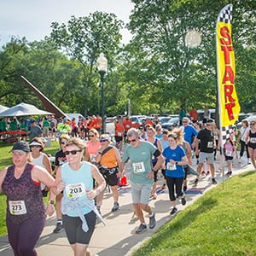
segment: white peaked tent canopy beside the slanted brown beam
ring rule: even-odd
[[[36,108],[31,104],[20,103],[12,108],[0,112],[0,117],[3,116],[28,116],[28,115],[47,115],[50,112]]]

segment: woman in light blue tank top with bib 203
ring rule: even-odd
[[[96,225],[97,212],[94,198],[106,187],[102,174],[95,165],[83,161],[85,143],[76,137],[66,145],[67,163],[56,174],[54,193],[63,190],[61,212],[67,240],[74,255],[85,255]],[[93,189],[93,179],[98,183]]]

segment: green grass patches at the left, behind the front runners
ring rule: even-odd
[[[13,147],[13,144],[0,143],[0,172],[6,167],[12,165],[11,153],[9,151]],[[59,143],[52,142],[51,147],[45,148],[45,154],[55,155],[59,148]],[[6,235],[7,230],[5,226],[5,214],[6,214],[6,196],[0,195],[0,236]]]

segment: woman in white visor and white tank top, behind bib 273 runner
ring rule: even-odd
[[[51,175],[51,165],[49,158],[44,154],[44,143],[39,137],[34,137],[29,144],[32,154],[32,164],[35,166],[41,166],[49,172]],[[41,183],[41,190],[44,197],[47,196],[49,188],[45,187],[44,183]]]

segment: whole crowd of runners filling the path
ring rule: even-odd
[[[80,124],[84,122],[82,118],[75,126],[65,118],[55,125],[55,136],[60,133],[56,136],[60,149],[55,154],[54,167],[49,155],[44,154],[40,133],[38,137],[30,137],[29,143],[18,141],[12,148],[13,166],[0,172],[0,191],[7,195],[7,227],[15,255],[37,255],[34,247],[44,228],[45,213],[53,214],[54,206],[57,221],[53,232],[65,229],[74,254],[84,255],[96,218],[104,223],[101,207],[106,189],[113,196],[111,211],[122,207],[119,186],[128,162],[133,211],[140,221],[136,234],[148,227],[154,229],[157,212],[153,212],[148,203],[150,199],[157,200],[160,175],[163,177],[161,189],[168,189],[170,214],[175,215],[179,203],[186,204],[188,174],[195,176],[194,186],[200,182],[201,174],[211,175],[212,184],[216,184],[215,172],[221,171],[223,162],[227,163],[226,175],[230,177],[234,158],[241,162],[244,152],[247,164],[252,162],[256,170],[254,121],[248,124],[242,120],[240,133],[230,131],[221,150],[220,131],[208,116],[202,122],[195,116],[180,116],[180,123],[172,127],[172,131],[162,129],[157,117],[135,126],[129,116],[125,116],[114,120],[113,136],[102,134],[102,119],[95,119],[96,125],[90,128]],[[216,158],[219,166],[214,162]],[[49,196],[46,212],[42,196]],[[148,224],[143,212],[148,212]],[[33,239],[24,241],[28,233]]]

